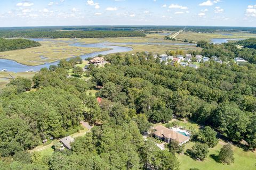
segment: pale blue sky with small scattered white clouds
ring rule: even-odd
[[[0,0],[0,27],[51,25],[256,27],[256,1]]]

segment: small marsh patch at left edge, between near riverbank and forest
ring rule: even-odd
[[[12,77],[25,77],[28,79],[32,79],[34,75],[36,74],[35,72],[20,72],[20,73],[13,73],[10,72]],[[0,72],[0,89],[4,88],[6,84],[8,84],[11,81],[11,77],[7,72]]]

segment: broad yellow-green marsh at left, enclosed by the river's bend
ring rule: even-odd
[[[108,50],[108,48],[69,46],[68,43],[61,41],[43,41],[41,44],[41,47],[1,52],[0,58],[13,60],[26,65],[41,65],[45,62],[54,62],[63,58]]]

